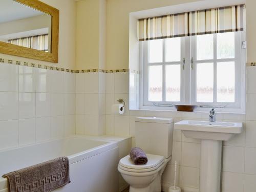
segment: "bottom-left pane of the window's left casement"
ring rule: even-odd
[[[162,66],[149,66],[148,100],[162,101],[163,73]]]

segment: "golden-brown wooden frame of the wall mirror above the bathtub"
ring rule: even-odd
[[[14,0],[14,1],[52,16],[51,53],[39,51],[36,49],[26,48],[22,46],[17,46],[13,44],[8,44],[7,42],[2,42],[2,41],[0,41],[0,53],[57,63],[58,62],[58,45],[59,45],[59,10],[45,3],[42,3],[38,0]]]

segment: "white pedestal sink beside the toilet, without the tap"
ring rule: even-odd
[[[242,133],[243,124],[182,120],[174,127],[188,138],[201,139],[199,192],[220,192],[222,141]]]

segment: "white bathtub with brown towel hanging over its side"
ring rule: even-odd
[[[71,183],[54,191],[118,191],[118,143],[70,136],[0,151],[0,192],[8,192],[3,174],[60,156],[69,158]]]

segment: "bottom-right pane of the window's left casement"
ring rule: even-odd
[[[165,68],[166,101],[180,101],[180,65]]]

